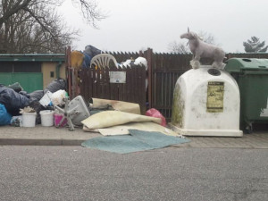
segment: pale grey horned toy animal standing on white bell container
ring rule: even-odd
[[[225,53],[220,47],[205,43],[196,33],[189,31],[189,29],[188,32],[182,34],[180,38],[188,39],[189,49],[193,53],[193,60],[190,61],[193,69],[200,67],[199,61],[202,57],[214,59],[214,63],[212,64],[213,68],[224,69],[225,64],[222,63],[222,61]]]

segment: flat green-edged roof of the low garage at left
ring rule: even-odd
[[[0,62],[64,62],[65,54],[0,54]]]

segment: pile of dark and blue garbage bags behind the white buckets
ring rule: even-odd
[[[52,81],[44,90],[37,90],[32,93],[23,91],[19,83],[4,86],[0,85],[0,125],[10,124],[13,116],[20,115],[20,109],[24,107],[33,108],[37,115],[36,123],[41,122],[40,111],[46,110],[52,105],[41,105],[40,99],[46,95],[47,92],[55,93],[59,90],[65,92],[66,82],[63,79],[56,79]]]

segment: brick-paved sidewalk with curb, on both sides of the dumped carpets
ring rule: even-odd
[[[0,145],[36,145],[36,146],[80,146],[89,139],[101,136],[99,133],[85,132],[81,128],[69,131],[67,128],[0,127]],[[268,131],[244,134],[242,138],[230,137],[187,137],[191,141],[172,147],[205,148],[268,148]]]

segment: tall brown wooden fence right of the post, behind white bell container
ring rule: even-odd
[[[191,69],[189,62],[192,54],[157,54],[148,51],[148,59],[151,59],[151,90],[150,107],[154,107],[163,113],[167,121],[172,117],[173,89],[180,75]],[[268,58],[268,54],[226,54],[226,60],[232,58]],[[202,59],[202,64],[212,64],[209,59]]]

